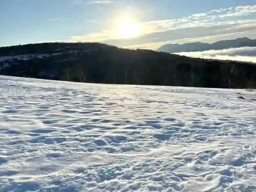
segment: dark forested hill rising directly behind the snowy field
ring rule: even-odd
[[[99,43],[0,48],[0,75],[77,82],[256,88],[256,65],[190,58]]]

